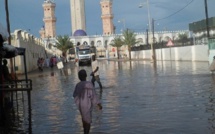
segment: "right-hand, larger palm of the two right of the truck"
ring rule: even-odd
[[[122,34],[124,36],[123,44],[128,46],[129,60],[131,60],[131,47],[138,43],[136,40],[136,34],[134,34],[134,32],[129,29],[123,31]]]

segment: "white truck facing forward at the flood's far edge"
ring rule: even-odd
[[[91,65],[92,55],[95,55],[92,47],[88,45],[80,45],[77,50],[78,64],[82,65],[83,63]]]

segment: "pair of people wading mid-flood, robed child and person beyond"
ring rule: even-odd
[[[95,92],[95,81],[99,84],[100,91],[102,91],[102,84],[99,78],[99,67],[95,55],[92,56],[92,76],[91,82],[87,81],[87,72],[81,69],[78,72],[80,82],[76,84],[73,97],[75,103],[82,116],[82,123],[84,134],[89,134],[92,122],[92,110],[95,105],[101,110],[102,105]]]

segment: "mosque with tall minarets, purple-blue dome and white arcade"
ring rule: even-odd
[[[110,46],[110,43],[116,36],[122,36],[122,34],[115,34],[113,24],[113,0],[100,0],[101,6],[101,21],[102,21],[102,35],[87,35],[86,33],[86,17],[85,17],[85,0],[70,0],[71,7],[71,31],[72,36],[70,40],[74,45],[77,43],[94,45],[97,48],[98,56],[108,57],[115,54],[114,48]],[[47,45],[55,44],[56,38],[56,17],[55,17],[56,4],[52,0],[45,0],[43,3],[44,9],[44,27],[40,30],[40,37],[47,42]],[[162,31],[155,32],[154,37],[157,42],[167,41],[169,39],[177,38],[179,33],[186,33],[189,35],[189,31]],[[147,33],[135,33],[136,38],[139,41],[138,45],[146,44]],[[121,48],[121,53],[127,53],[126,46]]]

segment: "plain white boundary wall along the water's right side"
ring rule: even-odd
[[[131,52],[132,59],[150,60],[151,55],[151,50]],[[156,59],[174,61],[208,61],[208,45],[193,45],[156,49]]]

